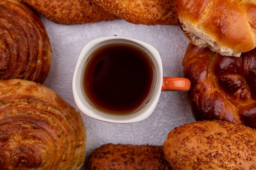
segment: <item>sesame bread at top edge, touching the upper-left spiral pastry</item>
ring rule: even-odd
[[[109,21],[117,16],[96,5],[92,0],[22,0],[40,14],[59,24],[82,24]]]

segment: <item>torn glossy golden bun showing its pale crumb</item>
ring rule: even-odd
[[[194,45],[236,57],[256,47],[255,0],[174,0],[174,4]]]

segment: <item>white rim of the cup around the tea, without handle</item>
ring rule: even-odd
[[[99,112],[99,110],[92,110],[87,108],[87,106],[85,106],[85,104],[83,104],[83,102],[85,102],[85,98],[83,97],[82,94],[82,87],[80,86],[80,78],[81,75],[83,74],[83,65],[85,64],[85,61],[88,59],[89,57],[89,52],[90,49],[92,49],[92,47],[97,46],[97,44],[101,43],[101,42],[105,42],[108,40],[128,40],[131,43],[137,43],[140,44],[141,46],[143,46],[145,49],[147,49],[148,51],[150,51],[150,53],[153,55],[152,57],[155,58],[155,60],[157,62],[154,62],[156,68],[158,69],[158,74],[157,75],[157,87],[155,87],[155,92],[153,94],[153,96],[150,99],[150,104],[149,106],[146,106],[144,110],[141,110],[142,113],[138,113],[136,116],[130,117],[129,115],[125,116],[120,116],[120,115],[116,115],[116,116],[112,116],[111,117],[102,117],[99,116],[97,114],[94,114],[94,112]],[[88,55],[86,55],[88,54]],[[162,70],[162,60],[161,57],[157,51],[157,49],[155,49],[154,46],[152,46],[151,44],[148,44],[147,42],[141,41],[141,40],[137,40],[135,38],[128,38],[128,37],[123,37],[123,36],[107,36],[107,37],[101,37],[101,38],[96,38],[94,40],[91,40],[90,42],[88,42],[87,44],[85,44],[85,46],[83,47],[83,49],[81,50],[79,57],[77,59],[76,62],[76,67],[74,70],[74,75],[73,75],[73,79],[72,79],[72,91],[73,91],[73,97],[74,97],[74,102],[76,104],[76,107],[81,111],[81,113],[83,113],[84,115],[91,117],[93,119],[97,119],[99,121],[105,121],[105,122],[109,122],[109,123],[117,123],[117,124],[128,124],[128,123],[135,123],[135,122],[139,122],[139,121],[143,121],[144,119],[148,118],[152,113],[153,110],[155,109],[157,102],[159,100],[160,97],[160,93],[161,93],[161,88],[162,88],[162,79],[163,79],[163,70]],[[88,101],[86,101],[88,102]],[[89,113],[91,112],[91,113]],[[118,118],[120,119],[118,119]]]

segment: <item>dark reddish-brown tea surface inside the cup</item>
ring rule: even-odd
[[[84,91],[96,108],[108,113],[132,113],[148,96],[154,65],[138,46],[105,44],[92,52],[86,64]]]

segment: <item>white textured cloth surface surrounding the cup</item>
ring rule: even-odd
[[[182,59],[189,41],[178,26],[135,25],[124,20],[66,26],[42,20],[52,45],[51,70],[45,85],[74,107],[72,76],[76,60],[83,46],[94,38],[119,35],[148,42],[162,57],[164,77],[183,76]],[[195,121],[186,92],[171,91],[162,92],[153,114],[139,123],[111,124],[82,117],[87,128],[86,159],[106,143],[162,145],[173,128]]]

